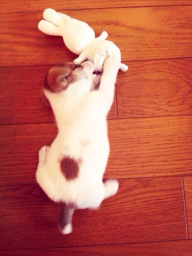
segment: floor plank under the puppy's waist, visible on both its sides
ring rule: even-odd
[[[109,120],[105,178],[192,174],[192,117]],[[1,185],[34,184],[38,151],[55,138],[55,123],[1,126]]]

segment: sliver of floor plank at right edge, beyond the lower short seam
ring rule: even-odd
[[[188,236],[192,238],[192,176],[183,177]],[[192,248],[192,247],[191,247]]]

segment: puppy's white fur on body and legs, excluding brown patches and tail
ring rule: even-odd
[[[118,190],[118,181],[103,183],[102,179],[110,152],[106,116],[113,103],[119,63],[113,55],[106,59],[99,90],[90,91],[94,66],[85,68],[86,77],[61,93],[44,90],[58,134],[50,149],[41,149],[36,178],[55,202],[74,203],[79,209],[97,208]],[[63,155],[82,160],[77,178],[65,179],[59,163]]]

